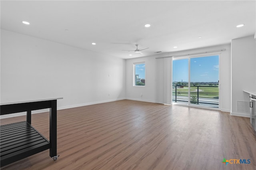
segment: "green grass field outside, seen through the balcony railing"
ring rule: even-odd
[[[219,98],[218,87],[200,87],[199,86],[199,97],[205,98]],[[175,89],[172,89],[172,95],[175,96]],[[197,96],[197,87],[190,87],[190,95]],[[177,96],[188,96],[188,88],[177,88]]]

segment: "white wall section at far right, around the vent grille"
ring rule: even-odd
[[[246,91],[256,91],[256,42],[254,36],[231,42],[232,110],[231,115],[250,117],[250,113],[237,111],[237,101],[249,102]]]

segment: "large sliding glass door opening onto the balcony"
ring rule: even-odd
[[[219,55],[175,58],[172,101],[218,107]]]

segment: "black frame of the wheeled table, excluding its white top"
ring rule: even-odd
[[[39,109],[47,109],[47,108],[50,108],[50,141],[48,141],[44,136],[42,136],[42,134],[40,134],[34,127],[31,126],[31,111],[39,110]],[[9,154],[5,154],[3,156],[1,154],[1,157],[0,157],[1,167],[7,164],[10,164],[12,162],[15,162],[17,160],[21,160],[23,158],[31,156],[33,154],[36,154],[38,152],[42,152],[43,150],[47,150],[47,149],[50,149],[51,158],[57,156],[57,99],[47,100],[47,101],[35,101],[35,102],[28,102],[28,103],[15,103],[15,104],[7,104],[7,105],[0,106],[0,115],[20,113],[25,111],[27,112],[26,126],[30,129],[33,128],[38,133],[37,135],[42,136],[42,138],[44,138],[46,142],[44,144],[38,145],[38,147],[30,146],[26,148],[26,150],[23,149],[24,152],[22,152],[22,150],[19,150],[17,151],[17,153],[10,151]],[[6,125],[1,126],[1,130],[2,128],[4,129],[4,127],[6,127]],[[5,131],[11,131],[11,130],[12,128],[10,128],[10,130],[5,128]],[[12,133],[16,133],[17,135],[19,135],[19,131],[12,132]],[[1,140],[2,140],[2,137],[1,137]],[[2,150],[2,147],[1,147],[1,150]]]

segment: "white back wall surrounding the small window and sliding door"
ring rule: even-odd
[[[140,57],[136,59],[126,60],[126,98],[139,101],[156,102],[157,82],[156,82],[156,57],[172,56],[172,55],[186,55],[194,53],[204,53],[206,51],[218,51],[226,49],[220,53],[220,110],[230,112],[231,107],[231,47],[230,44],[217,45],[212,47],[204,47],[200,49],[191,49],[186,51],[178,51],[173,53],[165,53],[150,57]],[[133,63],[146,62],[146,86],[134,87],[132,85]],[[142,97],[140,94],[142,93]]]

